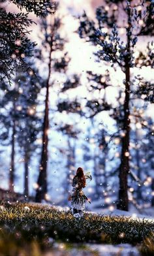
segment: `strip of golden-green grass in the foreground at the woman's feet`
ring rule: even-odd
[[[41,251],[50,248],[54,240],[61,240],[66,244],[129,243],[138,245],[144,255],[154,255],[153,234],[152,221],[89,213],[85,213],[81,219],[75,219],[70,212],[40,204],[18,203],[0,206],[0,251],[3,251],[4,243],[15,248],[15,251],[18,247],[23,248],[23,244],[25,248],[30,244],[28,248],[31,251]],[[8,242],[10,240],[11,245]]]

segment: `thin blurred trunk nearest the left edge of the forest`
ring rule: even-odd
[[[11,155],[10,155],[10,172],[9,172],[9,191],[10,191],[10,192],[14,192],[15,135],[16,135],[16,121],[13,120],[13,125],[12,125],[12,142],[11,142]]]

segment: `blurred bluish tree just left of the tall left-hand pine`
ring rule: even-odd
[[[39,77],[38,74],[37,77]],[[15,83],[19,89],[22,88],[22,93],[16,101],[16,109],[20,112],[16,142],[20,146],[20,154],[23,156],[24,163],[23,193],[25,197],[28,197],[29,165],[31,157],[38,147],[36,140],[42,128],[42,122],[37,116],[38,94],[42,88],[42,79],[40,78],[39,82],[36,82],[33,76],[29,78],[22,73],[17,74]]]

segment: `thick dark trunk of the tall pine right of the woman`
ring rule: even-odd
[[[131,2],[131,1],[129,1]],[[127,56],[125,57],[125,103],[124,103],[124,118],[123,132],[125,136],[121,138],[121,164],[119,167],[119,198],[117,209],[129,210],[128,197],[128,174],[129,174],[129,137],[130,137],[130,119],[129,119],[129,101],[130,101],[130,31],[131,31],[131,10],[128,8],[128,27],[127,27]]]

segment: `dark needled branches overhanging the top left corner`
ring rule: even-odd
[[[27,14],[18,12],[6,12],[0,8],[0,81],[11,83],[12,76],[16,70],[33,72],[26,62],[26,57],[33,56],[35,42],[28,39],[29,27],[34,23],[28,18],[29,12],[37,16],[45,17],[55,12],[55,4],[50,0],[20,1],[10,0],[20,10],[26,9]]]

